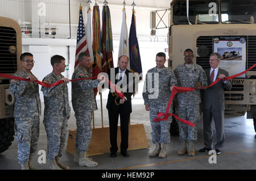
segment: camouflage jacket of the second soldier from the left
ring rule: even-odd
[[[64,76],[61,75],[61,78]],[[47,83],[55,83],[61,78],[52,71],[52,73],[46,75],[43,81]],[[59,116],[59,113],[66,113],[67,117],[71,115],[71,108],[68,102],[68,86],[67,83],[53,87],[42,87],[41,91],[44,94],[44,119],[51,117],[52,119]],[[57,117],[56,117],[57,116]]]

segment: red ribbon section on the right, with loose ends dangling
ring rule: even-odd
[[[241,73],[238,73],[238,74],[235,74],[235,75],[232,75],[232,76],[229,76],[229,77],[225,77],[223,79],[220,79],[220,78],[217,78],[213,83],[211,83],[209,86],[207,87],[200,87],[200,89],[207,89],[208,87],[212,87],[213,85],[215,85],[217,82],[219,81],[229,81],[230,79],[234,78],[234,77],[238,77],[242,74],[245,74],[247,71],[251,70],[254,68],[254,66],[256,66],[256,64],[254,64],[253,66],[251,66],[249,69],[245,70],[245,71],[242,71]],[[158,118],[155,118],[154,119],[154,122],[157,122],[157,121],[167,121],[168,120],[168,117],[169,116],[174,116],[177,120],[185,123],[185,124],[188,124],[190,125],[191,127],[194,127],[195,124],[194,123],[191,123],[190,121],[187,121],[187,120],[183,120],[183,119],[180,119],[177,115],[173,114],[173,113],[168,113],[169,110],[170,110],[170,107],[171,107],[171,103],[172,103],[172,99],[174,99],[174,96],[177,94],[177,92],[188,92],[188,91],[194,91],[196,90],[195,87],[174,87],[174,89],[172,89],[172,92],[171,92],[171,96],[170,96],[170,99],[169,99],[169,102],[167,104],[167,108],[166,108],[166,112],[158,112],[157,113],[157,117]],[[163,116],[163,117],[162,117]]]

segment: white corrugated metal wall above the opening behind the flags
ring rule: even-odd
[[[46,37],[68,38],[69,37],[69,5],[68,0],[1,0],[0,1],[0,16],[5,16],[15,19],[19,22],[23,30],[32,30],[33,34],[24,34],[23,37],[44,37],[44,30],[55,31],[56,35],[46,35]],[[76,38],[77,22],[79,15],[80,1],[71,0],[71,36]],[[94,2],[94,1],[93,1]],[[102,11],[102,4],[100,12]],[[86,24],[87,3],[82,2],[84,23]],[[122,9],[121,5],[109,5],[112,17],[113,37],[118,40],[121,24],[122,24]],[[93,4],[91,5],[93,9]],[[156,7],[135,7],[137,17],[137,36],[141,41],[150,41],[150,11],[156,10]],[[128,28],[131,23],[132,7],[126,5],[126,22]],[[92,16],[92,15],[91,15]],[[157,16],[158,18],[158,16]],[[158,18],[159,20],[159,18]],[[168,16],[164,16],[164,22],[168,22]],[[39,31],[42,27],[42,31]],[[45,28],[46,29],[45,29]],[[40,33],[41,32],[41,33]],[[167,40],[168,29],[158,30],[157,34],[159,41]],[[161,39],[162,37],[162,39]]]

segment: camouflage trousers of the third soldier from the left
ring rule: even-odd
[[[79,153],[88,150],[92,138],[92,111],[75,114],[76,117],[76,149]]]

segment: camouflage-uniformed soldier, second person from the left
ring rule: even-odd
[[[51,57],[52,73],[44,77],[44,83],[55,83],[60,79],[63,84],[53,87],[42,87],[44,94],[44,127],[47,133],[47,159],[50,161],[49,169],[69,169],[60,163],[59,158],[65,146],[67,120],[71,114],[68,102],[68,78],[61,75],[65,71],[65,58],[59,55]]]

